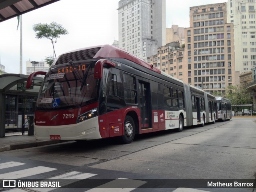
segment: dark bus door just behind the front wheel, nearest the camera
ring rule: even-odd
[[[139,82],[141,129],[151,128],[150,85]]]

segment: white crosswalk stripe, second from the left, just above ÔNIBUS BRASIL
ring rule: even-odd
[[[19,179],[19,178],[24,178],[24,177],[40,174],[40,173],[46,173],[46,172],[53,171],[53,170],[57,170],[57,169],[50,168],[50,167],[44,167],[44,166],[38,166],[38,167],[34,167],[34,168],[28,168],[28,169],[24,169],[24,170],[0,174],[0,179]]]

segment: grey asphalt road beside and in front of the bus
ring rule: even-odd
[[[4,167],[8,162],[23,164],[11,168]],[[1,164],[4,167],[2,169]],[[94,178],[98,179],[113,180],[182,179],[187,182],[186,179],[250,179],[255,186],[256,121],[254,118],[232,118],[230,121],[206,124],[204,127],[185,128],[180,133],[170,130],[143,134],[136,136],[134,142],[126,145],[121,145],[114,139],[104,139],[84,143],[66,142],[0,153],[0,179],[4,179],[5,175],[10,175],[11,179],[12,173],[17,170],[38,166],[42,166],[40,169],[46,171],[22,177],[43,179],[76,171],[94,174]],[[54,170],[47,171],[48,168]],[[200,190],[252,192],[255,188]],[[185,192],[192,189],[144,190],[134,187],[133,191]]]

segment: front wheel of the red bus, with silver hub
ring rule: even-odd
[[[131,143],[135,136],[135,124],[131,116],[126,116],[124,120],[124,134],[122,135],[122,143]]]

